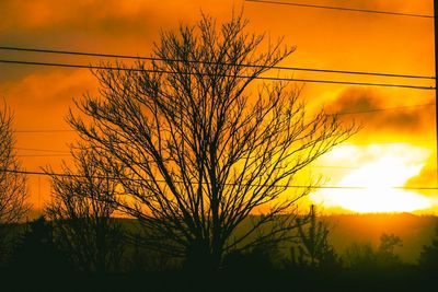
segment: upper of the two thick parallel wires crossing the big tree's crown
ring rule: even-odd
[[[151,61],[175,61],[181,62],[181,59],[164,59],[157,57],[145,57],[145,56],[130,56],[119,54],[102,54],[102,52],[87,52],[87,51],[73,51],[73,50],[57,50],[57,49],[37,49],[37,48],[25,48],[25,47],[11,47],[0,46],[3,50],[16,50],[16,51],[31,51],[31,52],[47,52],[47,54],[59,54],[59,55],[73,55],[73,56],[89,56],[89,57],[105,57],[105,58],[120,58],[120,59],[136,59],[136,60],[151,60]],[[207,63],[216,65],[215,62],[207,61],[189,61],[195,63]],[[227,65],[227,63],[224,63]],[[411,78],[411,79],[435,79],[435,77],[416,75],[416,74],[396,74],[396,73],[384,73],[384,72],[367,72],[367,71],[348,71],[348,70],[333,70],[333,69],[318,69],[318,68],[303,68],[303,67],[285,67],[285,66],[258,66],[242,63],[239,67],[249,68],[269,68],[278,70],[296,70],[296,71],[310,71],[320,73],[338,73],[338,74],[360,74],[360,75],[378,75],[378,77],[393,77],[393,78]]]

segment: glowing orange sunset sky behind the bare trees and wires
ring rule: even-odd
[[[295,2],[433,13],[431,0],[297,0]],[[194,22],[198,20],[200,11],[216,16],[218,21],[227,20],[233,8],[239,10],[242,7],[244,16],[250,20],[250,31],[266,33],[272,39],[285,36],[287,44],[297,46],[296,52],[284,63],[285,66],[434,75],[434,31],[430,19],[267,5],[238,0],[2,0],[0,45],[149,55],[151,44],[159,38],[160,30],[174,28],[181,22]],[[82,65],[99,61],[95,58],[3,50],[0,50],[0,58]],[[434,85],[427,80],[345,77],[298,71],[293,77]],[[80,98],[85,92],[94,93],[96,89],[94,78],[84,69],[0,65],[0,96],[5,98],[15,113],[16,130],[68,129],[65,116],[72,106],[72,98]],[[327,110],[333,112],[422,105],[435,101],[433,91],[314,83],[306,84],[302,95],[310,106],[325,106]],[[314,175],[322,174],[327,184],[336,185],[343,179],[344,182],[353,179],[354,175],[349,178],[347,175],[367,163],[395,155],[400,156],[400,161],[404,164],[397,165],[394,162],[394,170],[396,167],[407,170],[408,165],[416,167],[412,168],[408,179],[401,184],[436,185],[433,106],[343,117],[345,120],[351,118],[364,125],[364,129],[349,141],[354,148],[348,149],[348,155],[343,156],[334,152],[333,155],[319,162],[316,165],[319,167],[311,170]],[[28,156],[62,153],[23,149],[68,151],[68,143],[73,139],[71,132],[18,132],[18,153],[23,155],[21,160],[26,170],[38,171],[45,165],[53,165],[56,170],[60,161],[68,156]],[[404,143],[394,145],[395,142]],[[394,182],[400,183],[396,178],[394,177]],[[32,201],[38,208],[48,198],[48,179],[30,177],[30,183]],[[422,195],[430,200],[438,198],[436,191],[422,191]],[[328,199],[319,202],[324,203]],[[438,209],[435,206],[428,209],[433,212],[436,210]]]

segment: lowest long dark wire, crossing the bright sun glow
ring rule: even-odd
[[[0,170],[1,172],[5,173],[14,173],[14,174],[25,174],[25,175],[43,175],[43,176],[58,176],[58,177],[77,177],[77,178],[95,178],[95,179],[114,179],[117,180],[117,177],[110,177],[110,176],[85,176],[85,175],[78,175],[78,174],[62,174],[62,173],[43,173],[43,172],[31,172],[31,171],[18,171],[18,170]],[[129,180],[147,180],[142,178],[134,179],[130,178]],[[164,179],[155,179],[154,182],[158,183],[165,183]],[[175,184],[181,184],[183,182],[173,182]],[[206,184],[206,183],[204,183]],[[228,183],[224,184],[227,186],[238,186],[240,184],[237,183]],[[250,185],[253,187],[258,187],[262,185]],[[369,187],[365,186],[306,186],[306,185],[274,185],[275,187],[284,187],[284,188],[311,188],[311,189],[369,189]],[[403,187],[403,186],[392,186],[392,187],[384,187],[390,189],[411,189],[411,190],[437,190],[438,187]]]

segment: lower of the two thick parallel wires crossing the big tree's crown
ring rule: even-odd
[[[152,69],[136,69],[136,68],[122,68],[122,67],[106,67],[106,66],[85,66],[85,65],[73,65],[73,63],[59,63],[59,62],[36,62],[36,61],[20,61],[20,60],[4,60],[0,59],[0,63],[15,63],[15,65],[32,65],[32,66],[47,66],[47,67],[62,67],[62,68],[78,68],[78,69],[101,69],[101,70],[117,70],[117,71],[137,71],[137,72],[150,72],[150,73],[169,73],[177,74],[178,72],[165,71],[165,70],[152,70]],[[196,75],[198,73],[186,72],[184,74]],[[208,73],[200,73],[201,75],[210,75]],[[343,85],[358,85],[358,86],[382,86],[382,87],[403,87],[414,90],[435,90],[433,86],[419,86],[412,84],[393,84],[393,83],[371,83],[371,82],[349,82],[338,80],[318,80],[318,79],[295,79],[295,78],[274,78],[274,77],[249,77],[249,75],[223,75],[230,78],[243,78],[243,79],[258,79],[268,81],[296,81],[296,82],[308,82],[308,83],[325,83],[325,84],[343,84]]]

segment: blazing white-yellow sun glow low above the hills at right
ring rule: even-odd
[[[342,207],[355,212],[412,212],[429,208],[430,199],[403,187],[422,171],[429,151],[397,144],[383,147],[348,147],[332,154],[332,161],[344,156],[361,166],[345,174],[335,186],[349,189],[321,189],[311,200],[324,207]],[[347,156],[345,156],[347,154]],[[355,188],[357,187],[357,188]]]

